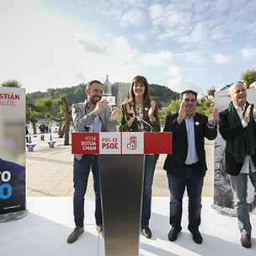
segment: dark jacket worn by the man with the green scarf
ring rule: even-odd
[[[230,126],[227,120],[228,109],[225,109],[219,114],[219,131],[221,136],[226,141],[225,149],[225,163],[226,163],[226,172],[233,176],[237,176],[243,167],[243,163],[236,163],[235,157],[232,157],[232,154],[227,151],[229,146],[229,141],[237,136],[239,133],[243,132],[244,129],[241,122],[238,122],[237,125]],[[254,122],[254,125],[256,123]],[[253,164],[256,166],[256,155],[251,156],[253,159]]]

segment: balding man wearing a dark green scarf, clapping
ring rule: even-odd
[[[232,101],[219,115],[221,136],[227,142],[226,172],[229,174],[234,208],[237,213],[240,242],[251,247],[252,226],[247,204],[248,177],[256,189],[256,104],[248,104],[243,83],[228,89]]]

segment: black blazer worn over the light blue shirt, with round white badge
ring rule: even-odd
[[[179,125],[177,122],[178,113],[168,115],[163,131],[172,131],[173,133],[173,154],[166,157],[163,169],[169,173],[179,174],[184,167],[188,153],[188,138],[185,120]],[[195,148],[199,158],[200,168],[205,175],[207,170],[205,161],[205,138],[214,140],[217,135],[216,126],[213,129],[208,127],[208,117],[195,113]]]

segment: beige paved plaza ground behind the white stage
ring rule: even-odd
[[[48,140],[49,134],[45,134]],[[71,146],[64,146],[64,139],[57,138],[56,147],[47,143],[35,146],[33,152],[26,152],[27,196],[72,196],[72,153]],[[32,141],[40,141],[40,135]],[[213,196],[213,141],[205,141],[208,171],[205,175],[203,196]],[[152,196],[169,196],[166,172],[163,163],[166,155],[160,155],[155,171]],[[89,177],[86,196],[93,196],[92,175]]]

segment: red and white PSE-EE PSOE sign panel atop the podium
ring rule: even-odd
[[[72,154],[171,154],[171,132],[74,132]]]

